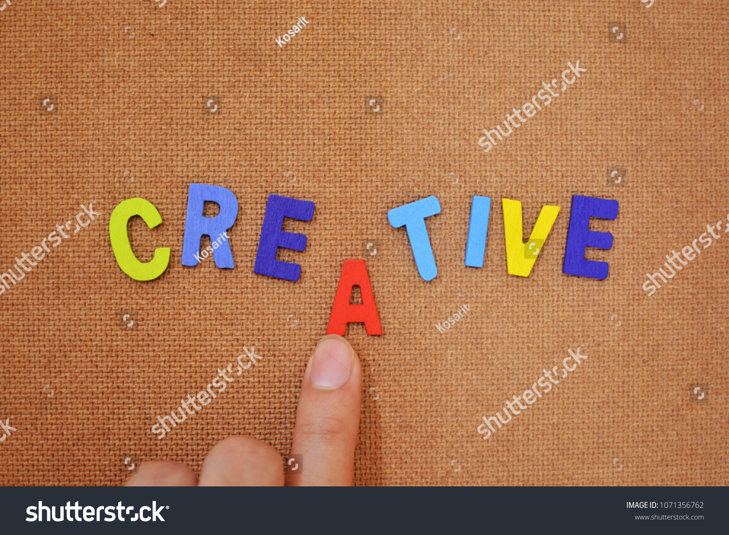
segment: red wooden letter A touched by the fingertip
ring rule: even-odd
[[[359,286],[359,292],[362,294],[362,305],[349,304],[352,287],[355,285]],[[370,276],[367,275],[367,265],[364,264],[364,260],[344,261],[327,335],[344,336],[348,323],[364,323],[368,335],[382,334],[375,297],[370,286]]]

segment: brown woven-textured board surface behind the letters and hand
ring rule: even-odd
[[[363,240],[380,241],[367,269],[384,334],[348,327],[364,369],[356,484],[728,483],[729,235],[652,297],[641,289],[727,219],[726,2],[159,5],[0,12],[0,270],[79,204],[103,213],[0,296],[0,418],[17,428],[0,443],[1,484],[117,485],[125,456],[199,469],[230,434],[296,453],[305,364]],[[615,22],[625,43],[609,39]],[[588,71],[484,154],[481,130],[580,58]],[[46,95],[56,113],[40,112]],[[611,166],[625,187],[607,184]],[[181,265],[190,182],[237,196],[235,269]],[[302,266],[296,283],[253,273],[270,193],[316,203],[311,222],[285,224],[308,236],[303,253],[279,253]],[[439,273],[424,282],[387,211],[428,195],[443,210],[427,219]],[[472,195],[492,198],[483,269],[464,266]],[[588,250],[609,262],[605,281],[562,273],[572,195],[620,203],[590,225],[615,237]],[[141,261],[171,248],[155,281],[122,273],[109,242],[112,210],[133,197],[163,217],[129,226]],[[507,273],[502,198],[521,200],[525,238],[542,205],[561,206],[529,278]],[[464,303],[472,313],[440,334]],[[138,329],[120,327],[128,311]],[[157,440],[156,416],[243,345],[262,362]],[[482,440],[481,415],[578,345],[582,366]],[[706,402],[690,402],[693,383]]]

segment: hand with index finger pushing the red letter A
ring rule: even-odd
[[[305,471],[286,476],[288,486],[351,485],[362,402],[362,368],[347,340],[327,335],[306,365],[296,411],[292,453]],[[262,440],[227,437],[208,453],[200,480],[186,464],[146,461],[126,486],[283,486],[281,455]]]

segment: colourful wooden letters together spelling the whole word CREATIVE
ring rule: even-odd
[[[219,212],[216,216],[203,216],[206,202],[217,203]],[[526,243],[523,242],[521,203],[518,200],[502,199],[502,208],[507,270],[510,275],[528,277],[557,219],[560,207],[542,206],[542,211]],[[590,218],[615,219],[617,209],[617,200],[583,195],[572,196],[572,211],[564,251],[564,273],[601,280],[607,278],[608,263],[585,259],[585,248],[612,248],[612,234],[589,230]],[[436,197],[430,196],[393,208],[387,214],[392,227],[405,227],[418,273],[425,281],[432,281],[438,274],[426,219],[439,213],[440,202]],[[491,198],[474,195],[464,262],[469,267],[483,268],[490,213]],[[301,266],[295,262],[277,260],[276,254],[279,247],[304,251],[307,238],[304,234],[289,233],[281,228],[286,217],[311,221],[313,214],[314,203],[311,200],[269,195],[254,273],[286,281],[298,281],[301,276]],[[167,269],[170,262],[170,248],[155,249],[152,260],[139,262],[132,251],[128,235],[128,221],[133,216],[140,216],[150,229],[162,223],[162,216],[152,203],[142,198],[127,199],[114,208],[109,218],[109,239],[121,270],[136,281],[151,281]],[[230,241],[221,237],[228,238],[227,232],[233,227],[237,218],[238,199],[232,191],[211,184],[190,184],[182,243],[182,265],[190,267],[198,265],[200,241],[203,235],[206,235],[211,239],[211,247],[208,246],[208,250],[212,251],[215,265],[218,268],[234,268]],[[350,304],[354,286],[359,286],[362,304]],[[344,335],[349,323],[364,323],[369,335],[382,334],[370,277],[362,259],[344,261],[327,334]]]

